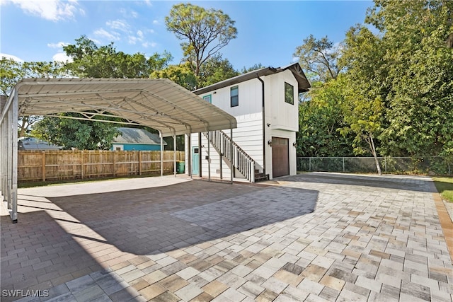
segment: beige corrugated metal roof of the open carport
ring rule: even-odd
[[[168,79],[23,79],[15,90],[19,116],[115,115],[163,137],[237,127],[232,115]]]

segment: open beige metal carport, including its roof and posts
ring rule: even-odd
[[[127,120],[122,124],[158,130],[161,140],[237,127],[233,116],[168,79],[23,79],[13,87],[0,116],[0,198],[13,222],[18,218],[18,116],[61,112],[80,113],[84,115],[81,120],[122,117]],[[187,137],[190,175],[190,135]]]

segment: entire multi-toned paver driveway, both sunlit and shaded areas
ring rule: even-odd
[[[1,301],[451,302],[433,192],[330,173],[21,189],[19,222],[1,216]]]

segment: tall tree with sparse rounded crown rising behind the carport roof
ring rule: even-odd
[[[205,9],[193,4],[175,4],[165,18],[166,27],[181,43],[195,74],[202,64],[236,38],[234,21],[223,11]]]

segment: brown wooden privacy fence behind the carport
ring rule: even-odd
[[[173,151],[164,151],[164,174],[173,173]],[[176,162],[184,152],[176,151]],[[18,181],[125,175],[159,175],[161,151],[18,151]]]

